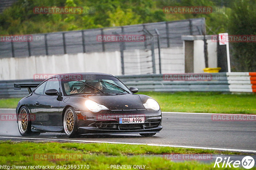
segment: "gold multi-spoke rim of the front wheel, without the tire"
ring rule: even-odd
[[[70,135],[74,130],[74,113],[72,109],[68,108],[64,115],[64,130],[66,134]]]

